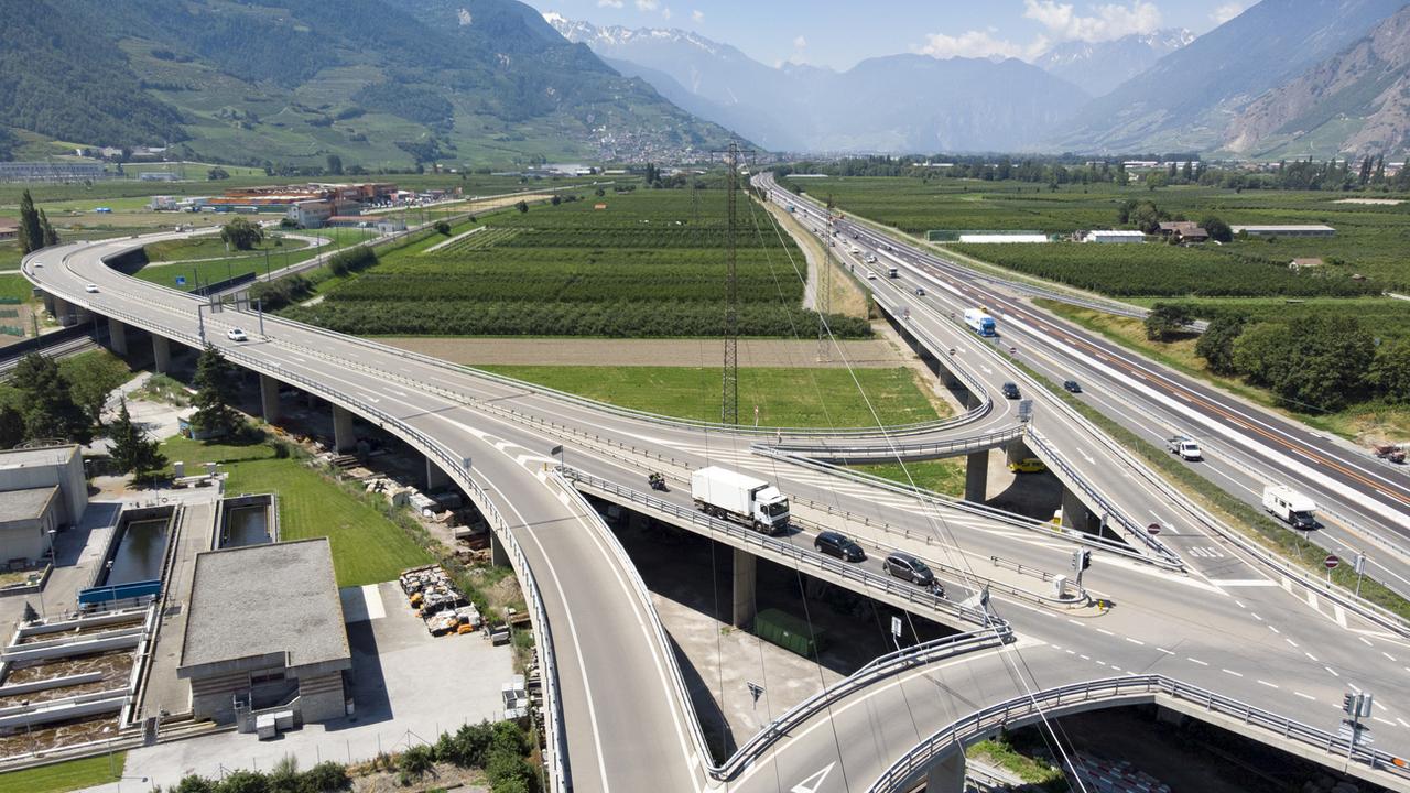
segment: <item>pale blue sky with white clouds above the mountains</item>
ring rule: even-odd
[[[527,0],[570,20],[632,28],[682,28],[770,65],[849,69],[877,55],[993,55],[1031,61],[1065,41],[1132,32],[1203,34],[1255,0]]]

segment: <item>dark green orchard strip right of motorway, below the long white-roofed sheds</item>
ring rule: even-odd
[[[1211,248],[1086,243],[948,247],[1010,270],[1122,298],[1354,298],[1380,292],[1375,284],[1352,281],[1340,272],[1293,272],[1287,262]]]

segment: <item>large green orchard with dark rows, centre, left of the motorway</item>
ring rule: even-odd
[[[321,289],[321,303],[285,313],[358,334],[721,336],[723,203],[722,190],[637,190],[503,212],[446,248],[429,251],[427,241],[386,253]],[[780,244],[761,209],[740,203],[739,334],[811,336],[818,320],[799,308],[801,253]],[[860,319],[833,316],[830,326],[843,337],[870,334]]]

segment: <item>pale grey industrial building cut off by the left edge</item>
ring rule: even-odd
[[[0,562],[28,567],[49,553],[49,531],[87,508],[79,446],[0,452]]]

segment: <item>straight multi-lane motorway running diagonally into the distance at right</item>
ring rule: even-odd
[[[807,196],[760,175],[776,202],[794,203],[811,227],[828,229],[828,212]],[[859,244],[880,258],[871,265],[902,268],[905,305],[943,306],[963,313],[983,306],[998,320],[1001,339],[1021,360],[1056,382],[1077,380],[1083,399],[1141,437],[1163,446],[1175,433],[1194,436],[1206,450],[1200,473],[1235,498],[1261,507],[1265,484],[1290,484],[1320,507],[1310,540],[1349,559],[1368,555],[1372,577],[1410,595],[1410,477],[1340,439],[1290,422],[1210,385],[1155,364],[1015,296],[994,278],[905,244],[870,224],[840,216],[839,250]],[[854,237],[853,237],[854,234]],[[981,343],[973,337],[974,343]]]

